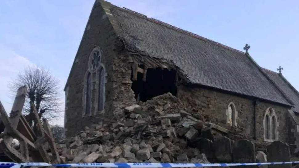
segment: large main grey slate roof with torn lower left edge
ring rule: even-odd
[[[291,105],[244,52],[112,5],[129,50],[172,61],[193,84]]]

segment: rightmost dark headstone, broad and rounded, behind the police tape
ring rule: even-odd
[[[268,162],[290,162],[290,147],[281,141],[274,141],[267,146]],[[291,164],[269,165],[269,168],[291,168]]]

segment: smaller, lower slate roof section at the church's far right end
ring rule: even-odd
[[[294,112],[299,113],[299,93],[298,91],[277,72],[262,68],[269,78],[283,91],[283,93],[294,103]]]

